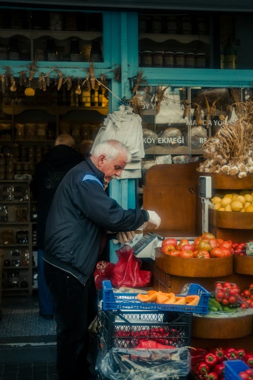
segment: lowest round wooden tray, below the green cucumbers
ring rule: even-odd
[[[206,339],[232,339],[250,335],[252,315],[232,318],[192,318],[192,336]]]

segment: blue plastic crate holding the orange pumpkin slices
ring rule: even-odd
[[[180,294],[179,294],[180,295]],[[156,302],[142,302],[137,293],[114,293],[111,281],[103,281],[103,309],[104,310],[163,310],[184,313],[208,313],[208,300],[210,293],[198,284],[190,284],[187,295],[199,295],[197,306],[173,305]]]

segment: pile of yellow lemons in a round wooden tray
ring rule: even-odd
[[[253,212],[253,191],[241,190],[238,194],[216,195],[211,202],[214,205],[213,210]]]

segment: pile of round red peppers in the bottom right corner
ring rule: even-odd
[[[240,378],[251,379],[253,368],[253,353],[233,347],[216,347],[210,349],[191,348],[191,366],[192,373],[197,379],[208,380],[224,380],[225,378],[225,362],[228,360],[242,360],[247,369],[247,376],[240,374]],[[243,377],[245,376],[245,377]]]

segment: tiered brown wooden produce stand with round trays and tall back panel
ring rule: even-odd
[[[156,165],[147,171],[146,185],[143,188],[143,206],[145,209],[155,210],[160,215],[161,225],[159,230],[155,231],[159,235],[194,237],[202,234],[202,205],[198,196],[198,177],[207,173],[196,172],[197,167],[198,163]],[[217,173],[212,173],[210,176],[214,189],[250,189],[253,184],[253,175],[243,179]],[[233,239],[235,242],[247,240],[249,236],[252,239],[253,215],[239,214],[239,212],[214,213],[213,210],[209,210],[209,232],[217,238]],[[156,248],[155,262],[149,269],[153,273],[155,290],[179,294],[185,284],[197,283],[206,290],[213,291],[216,281],[234,282],[244,289],[252,282],[253,272],[245,270],[241,262],[243,259],[239,257],[228,257],[226,262],[218,258],[199,259],[199,261],[195,261],[197,260],[195,258],[179,259],[179,257],[166,256]],[[251,268],[250,265],[247,267]],[[253,351],[252,316],[228,317],[223,320],[194,317],[192,346],[203,348],[231,346]]]

